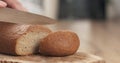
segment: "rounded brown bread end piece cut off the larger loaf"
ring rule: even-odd
[[[48,56],[67,56],[74,54],[79,45],[80,40],[76,33],[57,31],[41,40],[39,52]]]

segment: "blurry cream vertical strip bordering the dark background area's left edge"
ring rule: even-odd
[[[44,12],[46,16],[54,19],[57,18],[58,2],[59,0],[44,0]]]

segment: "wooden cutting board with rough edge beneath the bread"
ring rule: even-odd
[[[66,57],[47,57],[41,55],[9,56],[0,54],[0,63],[105,63],[95,55],[78,52]]]

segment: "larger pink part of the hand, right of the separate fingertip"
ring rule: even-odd
[[[9,7],[13,9],[27,11],[27,9],[25,9],[18,0],[4,0],[4,1],[8,4]]]

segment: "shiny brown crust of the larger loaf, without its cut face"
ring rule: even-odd
[[[0,53],[17,55],[17,39],[28,32],[34,31],[44,31],[48,33],[51,32],[51,30],[42,25],[0,22]]]

